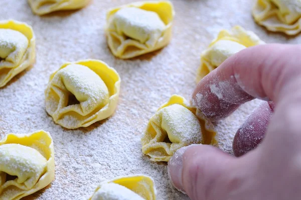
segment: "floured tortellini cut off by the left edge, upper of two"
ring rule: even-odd
[[[35,62],[36,39],[32,27],[0,21],[0,87]]]

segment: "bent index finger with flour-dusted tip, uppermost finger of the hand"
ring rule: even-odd
[[[291,47],[258,45],[238,52],[198,83],[192,104],[215,121],[254,98],[273,101],[275,91],[270,83],[277,82],[279,72],[291,61]]]

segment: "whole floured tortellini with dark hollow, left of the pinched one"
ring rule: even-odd
[[[87,127],[114,113],[119,88],[119,74],[100,60],[65,63],[50,76],[46,111],[65,128]]]

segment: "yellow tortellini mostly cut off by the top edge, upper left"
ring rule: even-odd
[[[28,0],[36,15],[45,15],[55,11],[81,9],[91,0]]]

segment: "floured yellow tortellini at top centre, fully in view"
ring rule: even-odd
[[[107,13],[108,46],[127,59],[166,46],[172,37],[174,9],[171,2],[137,2]]]

